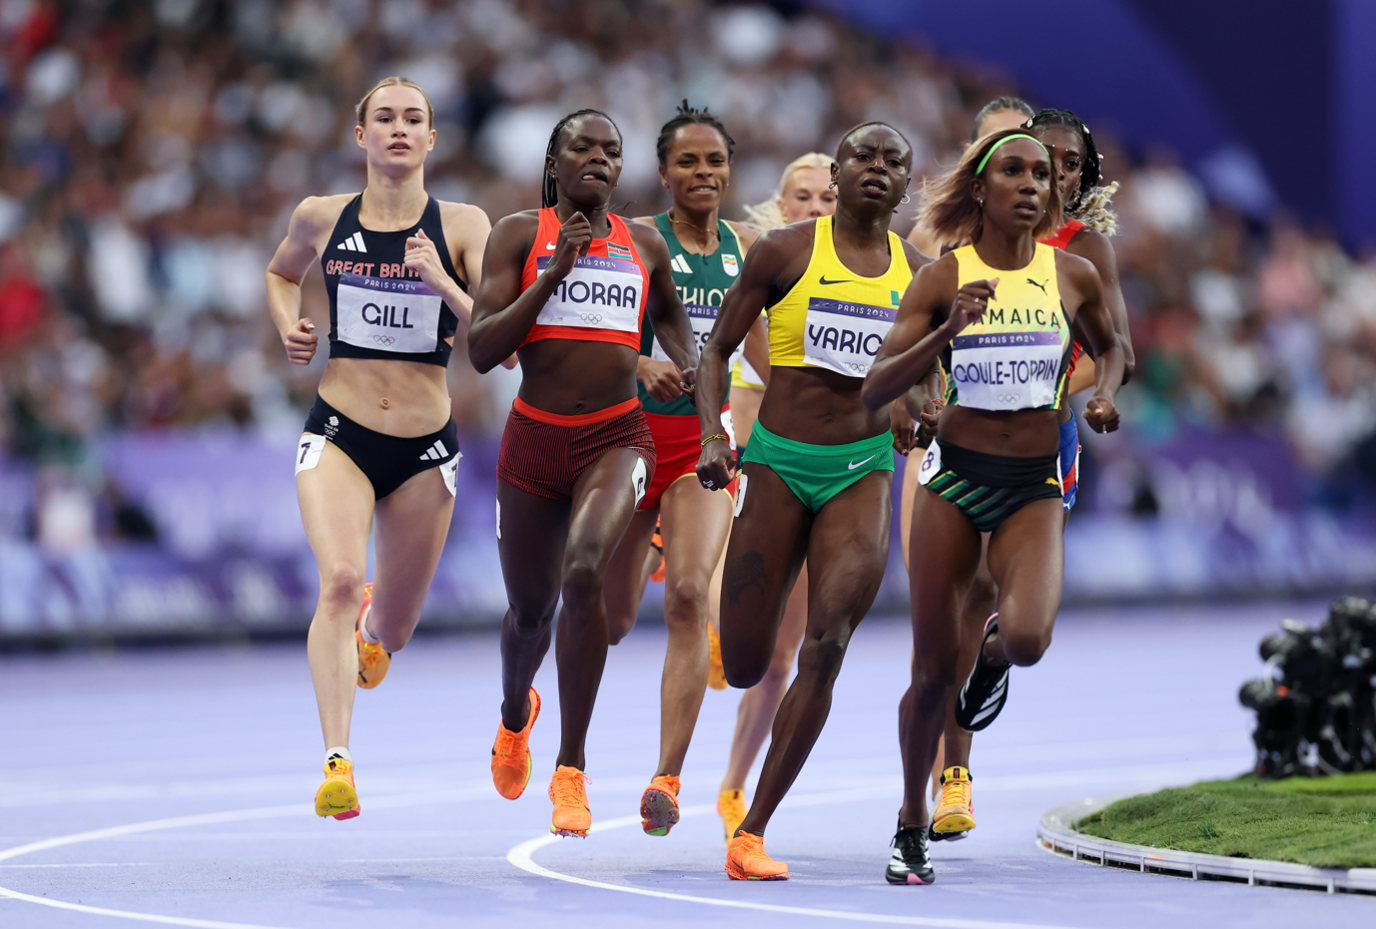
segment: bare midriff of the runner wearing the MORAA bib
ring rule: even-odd
[[[640,352],[611,341],[542,339],[517,352],[520,399],[557,416],[596,413],[636,396]]]

